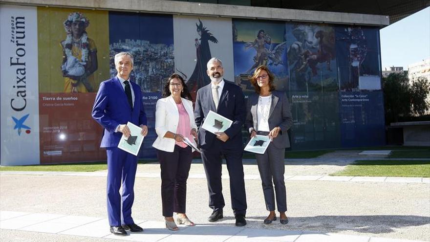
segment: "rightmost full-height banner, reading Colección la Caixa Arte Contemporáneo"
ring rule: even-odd
[[[338,26],[335,32],[342,147],[384,145],[379,30]]]

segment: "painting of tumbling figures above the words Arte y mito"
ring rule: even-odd
[[[291,91],[337,91],[333,26],[286,23],[285,35]]]

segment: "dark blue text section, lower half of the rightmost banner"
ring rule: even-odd
[[[385,145],[382,91],[342,91],[342,147]]]

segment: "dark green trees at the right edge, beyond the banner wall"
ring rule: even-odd
[[[430,109],[430,85],[425,79],[410,83],[406,73],[391,73],[383,77],[383,90],[387,125],[400,117],[424,115]]]

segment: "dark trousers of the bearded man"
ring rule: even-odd
[[[208,180],[209,207],[214,211],[225,206],[221,183],[221,155],[224,155],[230,176],[230,194],[235,215],[246,215],[245,181],[243,179],[242,149],[223,149],[220,140],[215,140],[210,149],[202,151],[202,162]]]

